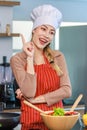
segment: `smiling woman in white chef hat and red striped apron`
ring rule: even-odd
[[[39,113],[23,103],[27,99],[44,111],[63,107],[62,100],[71,96],[71,84],[65,58],[49,45],[62,19],[61,12],[51,5],[42,5],[31,13],[32,39],[23,42],[23,51],[11,58],[11,67],[19,85],[21,130],[47,130]]]

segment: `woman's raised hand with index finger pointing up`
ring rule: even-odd
[[[33,58],[34,56],[34,45],[33,42],[25,42],[24,36],[21,34],[21,39],[23,43],[23,50],[27,54],[28,57]]]

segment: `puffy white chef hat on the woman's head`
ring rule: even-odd
[[[31,13],[33,29],[38,26],[48,24],[57,29],[62,21],[61,12],[52,5],[42,5],[33,9]]]

